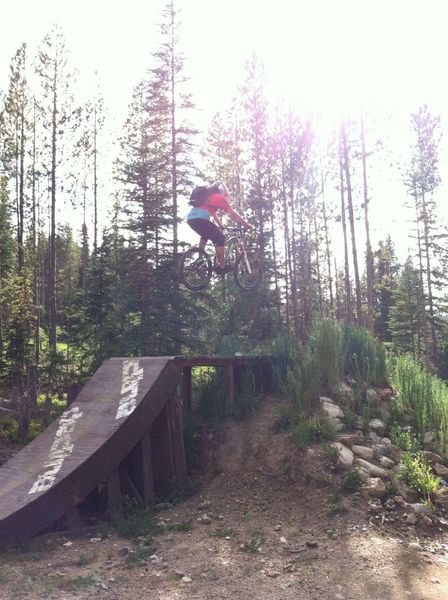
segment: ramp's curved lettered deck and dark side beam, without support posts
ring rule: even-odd
[[[169,358],[103,363],[69,409],[0,468],[0,541],[38,533],[105,480],[148,431],[179,380]],[[54,459],[61,456],[59,466]],[[43,485],[36,487],[39,481]]]

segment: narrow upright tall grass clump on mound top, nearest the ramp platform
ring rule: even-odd
[[[331,393],[342,377],[342,332],[337,321],[322,319],[314,324],[310,348],[319,367],[322,392]]]

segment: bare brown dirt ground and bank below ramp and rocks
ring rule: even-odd
[[[227,424],[219,444],[209,439],[214,477],[158,513],[151,548],[115,533],[39,538],[0,555],[0,597],[448,598],[447,533],[381,524],[360,495],[332,495],[323,448],[300,452],[275,432],[276,406],[268,397],[251,420]]]

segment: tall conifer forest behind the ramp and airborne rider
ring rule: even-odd
[[[0,395],[24,435],[36,406],[49,422],[54,401],[111,356],[270,355],[285,339],[300,353],[323,318],[365,328],[448,380],[447,124],[429,104],[407,115],[400,156],[368,112],[323,137],[316,115],[272,104],[253,55],[233,101],[201,130],[170,0],[110,174],[111,115],[100,84],[77,96],[69,50],[58,25],[36,54],[24,40],[0,90]],[[374,186],[383,163],[401,196]],[[189,195],[214,181],[252,224],[263,280],[251,292],[228,276],[200,293],[179,281],[179,256],[196,241],[183,225]],[[373,235],[381,202],[402,204],[409,252]]]

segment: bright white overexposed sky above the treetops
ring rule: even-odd
[[[80,70],[80,91],[89,93],[91,76],[98,71],[109,114],[119,127],[132,89],[158,47],[165,4],[0,0],[7,24],[0,36],[0,89],[6,87],[19,45],[27,42],[32,55],[58,22]],[[228,105],[253,52],[265,64],[271,98],[286,95],[298,107],[312,108],[322,125],[360,106],[387,110],[398,116],[394,126],[398,142],[405,144],[410,111],[422,102],[448,118],[444,0],[178,0],[177,5],[185,68],[204,128]],[[396,180],[383,183],[389,190],[397,185]],[[380,204],[378,210],[384,219]],[[387,215],[401,218],[391,204]]]

